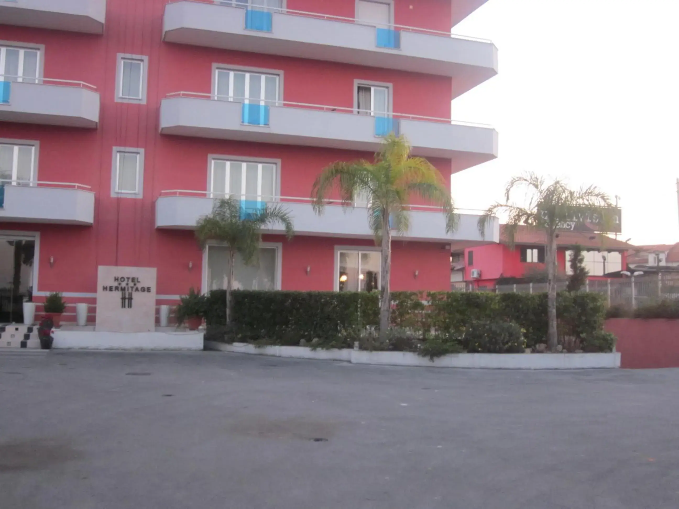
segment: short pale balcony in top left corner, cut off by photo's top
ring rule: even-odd
[[[104,33],[106,0],[0,0],[0,23]]]

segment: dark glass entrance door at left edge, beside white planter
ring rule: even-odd
[[[33,298],[35,238],[0,236],[0,323],[22,323]]]

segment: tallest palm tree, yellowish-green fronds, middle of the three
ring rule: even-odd
[[[446,232],[456,227],[457,216],[443,176],[423,157],[411,157],[410,145],[403,136],[386,136],[374,162],[365,159],[335,162],[324,168],[312,189],[314,210],[323,213],[328,195],[338,189],[342,206],[356,204],[357,198],[368,206],[368,224],[375,244],[382,244],[380,267],[380,336],[390,324],[390,271],[392,229],[405,233],[409,227],[409,200],[424,198],[441,207],[446,218]]]

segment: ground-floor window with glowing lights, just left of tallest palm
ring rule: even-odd
[[[340,292],[371,292],[380,289],[379,251],[341,250],[337,252],[336,288]]]

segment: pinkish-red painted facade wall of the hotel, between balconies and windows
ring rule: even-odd
[[[108,0],[103,36],[0,25],[0,39],[45,45],[41,56],[44,77],[91,83],[101,100],[96,130],[0,123],[0,138],[39,141],[39,181],[89,185],[96,195],[93,227],[0,225],[0,229],[40,233],[38,291],[94,293],[98,265],[158,267],[159,295],[200,287],[202,253],[193,234],[156,230],[155,199],[168,189],[206,189],[209,154],[280,159],[280,193],[293,197],[308,197],[314,178],[327,164],[371,157],[369,153],[332,149],[161,136],[160,100],[181,90],[210,92],[213,63],[283,71],[283,98],[287,101],[353,107],[354,79],[365,79],[392,83],[397,113],[450,116],[452,80],[446,77],[164,43],[162,13],[166,3]],[[288,2],[291,9],[348,17],[354,16],[354,6],[354,0]],[[399,24],[448,31],[451,2],[396,0],[395,16]],[[118,53],[148,56],[146,105],[115,102]],[[113,147],[145,149],[142,199],[111,197]],[[431,162],[449,181],[451,161]],[[371,240],[365,242],[372,244]],[[361,244],[299,237],[290,244],[285,242],[282,288],[331,290],[332,246],[352,243]],[[53,267],[50,257],[55,260]],[[190,270],[189,262],[193,264]],[[312,265],[310,276],[301,272],[307,265]],[[394,290],[445,290],[449,269],[449,252],[439,244],[394,244]],[[415,270],[419,271],[417,279]]]

